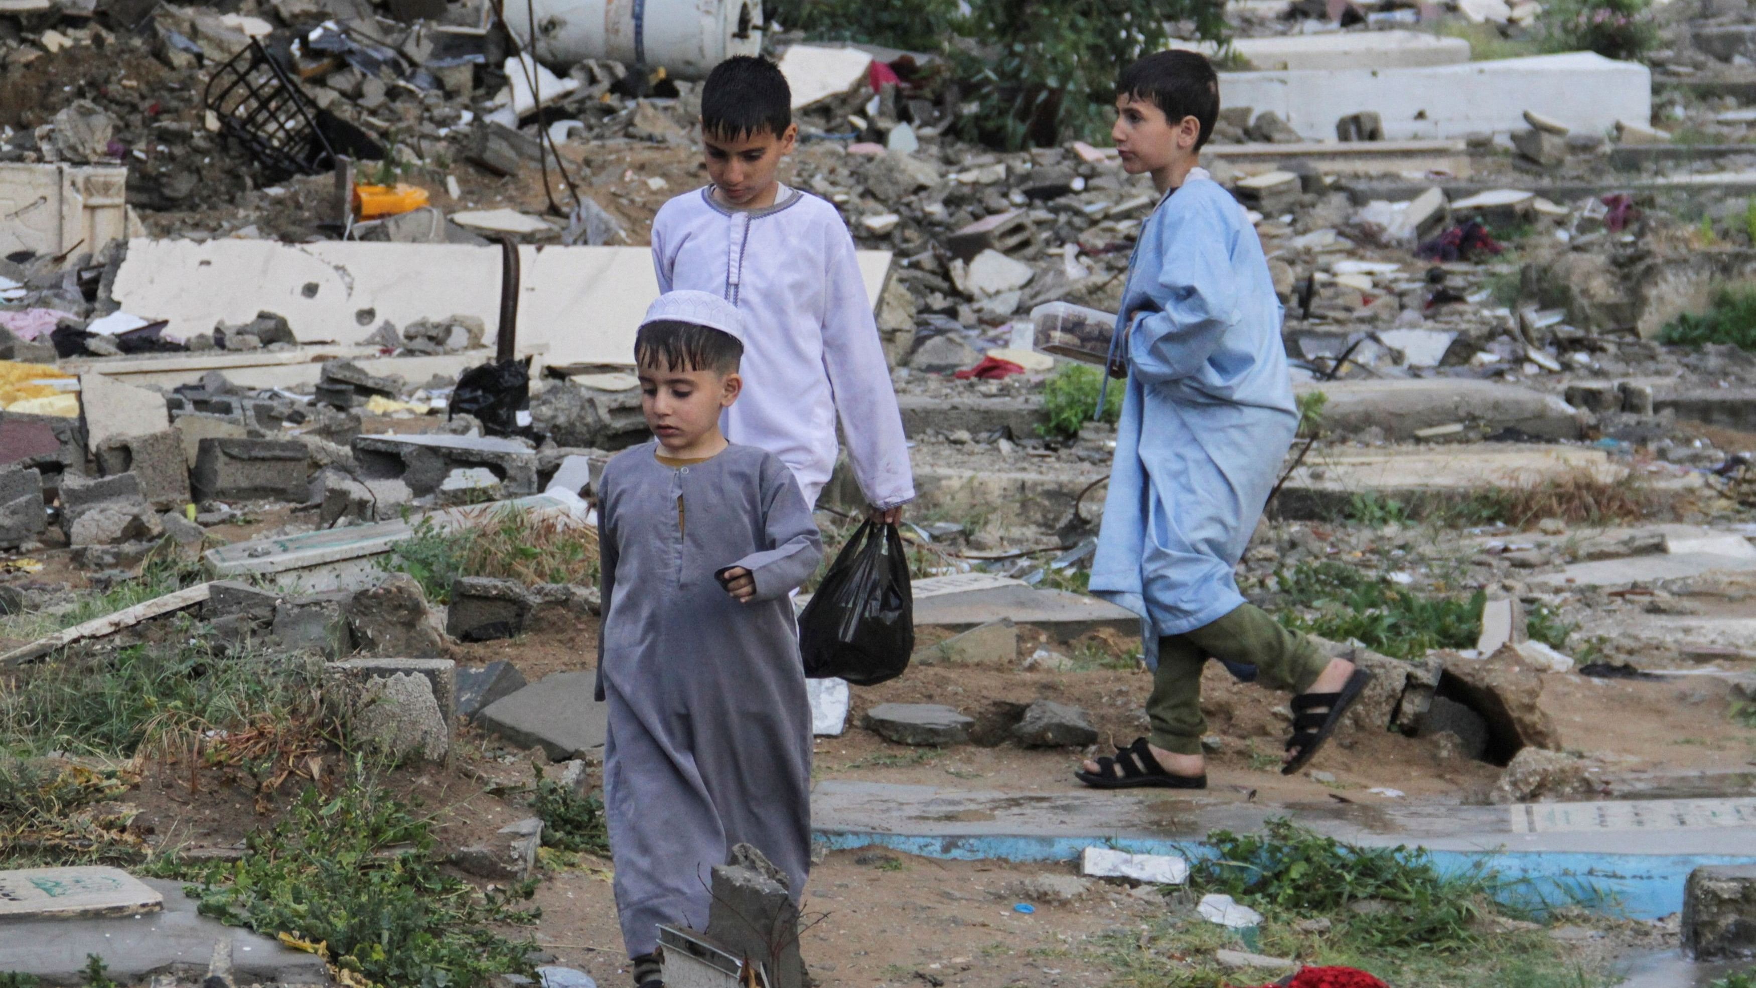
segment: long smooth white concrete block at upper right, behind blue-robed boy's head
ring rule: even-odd
[[[1359,37],[1359,35],[1350,35]],[[1652,74],[1593,53],[1542,54],[1414,68],[1220,72],[1220,105],[1273,111],[1306,140],[1371,107],[1389,140],[1510,133],[1524,111],[1607,132],[1617,119],[1652,118]]]

